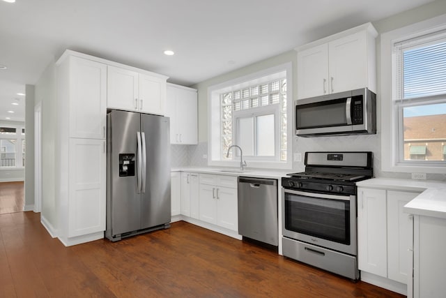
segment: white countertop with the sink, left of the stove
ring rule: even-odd
[[[234,171],[234,172],[226,172]],[[171,172],[194,172],[203,174],[219,174],[226,176],[243,176],[243,177],[256,177],[256,178],[267,178],[267,179],[281,179],[293,172],[293,170],[288,171],[277,171],[277,170],[256,170],[247,168],[243,172],[236,172],[237,169],[234,168],[224,168],[224,167],[173,167]]]

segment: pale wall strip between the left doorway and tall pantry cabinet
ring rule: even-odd
[[[35,105],[42,104],[42,209],[41,220],[49,232],[58,228],[56,211],[57,102],[54,62],[49,64],[35,86]]]

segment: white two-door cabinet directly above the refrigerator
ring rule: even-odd
[[[145,73],[107,67],[107,107],[164,115],[166,80]]]

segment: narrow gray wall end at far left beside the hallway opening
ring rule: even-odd
[[[25,88],[25,210],[31,210],[34,206],[34,86]]]

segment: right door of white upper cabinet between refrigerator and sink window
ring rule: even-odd
[[[197,92],[177,90],[176,117],[180,144],[198,143]]]

